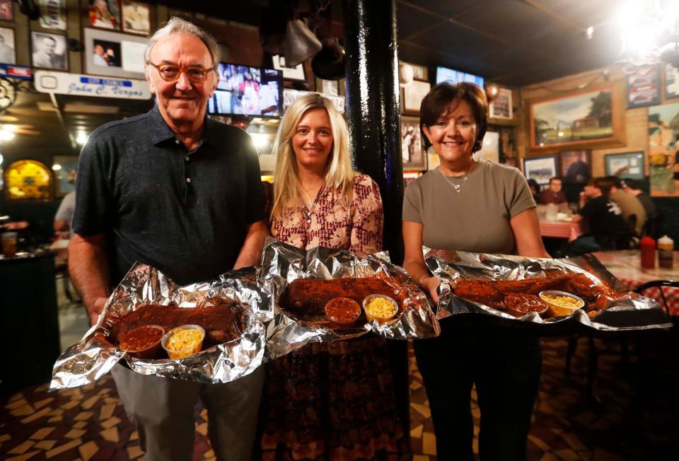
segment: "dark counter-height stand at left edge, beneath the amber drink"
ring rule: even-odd
[[[52,252],[0,255],[0,312],[0,394],[47,383],[60,353]]]

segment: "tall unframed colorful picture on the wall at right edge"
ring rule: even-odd
[[[651,196],[679,197],[679,103],[649,107]]]

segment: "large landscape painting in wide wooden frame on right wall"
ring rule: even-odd
[[[530,148],[620,146],[625,139],[622,85],[530,104]]]

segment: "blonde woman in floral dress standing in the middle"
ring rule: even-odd
[[[312,93],[286,111],[274,142],[272,235],[303,249],[381,250],[378,186],[354,173],[347,125]],[[385,340],[314,343],[267,366],[265,460],[393,459],[407,453]]]

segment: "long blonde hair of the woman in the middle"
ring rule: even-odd
[[[272,152],[277,154],[274,168],[274,204],[272,218],[281,216],[286,206],[299,206],[299,176],[297,161],[292,147],[292,136],[295,134],[301,118],[311,109],[325,109],[330,118],[332,129],[332,149],[325,168],[325,187],[342,188],[342,195],[351,202],[354,193],[354,170],[349,156],[349,132],[347,122],[337,111],[331,100],[318,93],[303,95],[286,110],[278,127]]]

